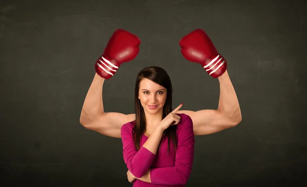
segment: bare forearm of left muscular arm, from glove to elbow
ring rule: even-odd
[[[87,91],[83,102],[83,107],[80,115],[81,124],[86,124],[91,121],[91,118],[103,113],[102,87],[104,78],[95,73],[94,79]]]

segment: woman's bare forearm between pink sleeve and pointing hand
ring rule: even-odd
[[[155,130],[153,130],[150,137],[143,144],[143,147],[156,155],[159,143],[162,138],[162,134],[163,134],[163,129],[158,125],[155,128]]]

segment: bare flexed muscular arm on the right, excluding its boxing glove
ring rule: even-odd
[[[218,77],[220,81],[220,100],[217,110],[178,111],[192,118],[195,135],[212,134],[236,126],[242,115],[238,98],[226,71]]]

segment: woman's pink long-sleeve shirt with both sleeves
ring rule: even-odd
[[[133,186],[167,186],[183,187],[187,182],[194,156],[194,132],[192,119],[186,114],[177,114],[181,117],[177,124],[177,150],[174,151],[170,140],[169,152],[167,152],[168,140],[161,139],[157,154],[151,153],[143,147],[148,139],[141,137],[141,148],[138,151],[133,141],[132,131],[136,121],[123,124],[121,137],[123,143],[123,157],[128,170],[136,177],[141,178],[150,169],[151,183],[134,180]]]

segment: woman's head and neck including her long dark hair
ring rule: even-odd
[[[172,109],[172,87],[167,72],[160,67],[148,67],[141,70],[135,86],[136,147],[139,148],[143,134],[151,132]],[[164,133],[176,143],[176,127]]]

